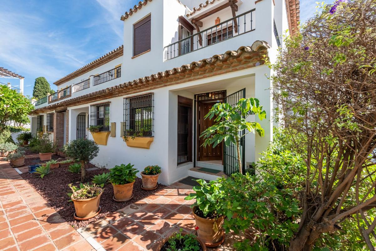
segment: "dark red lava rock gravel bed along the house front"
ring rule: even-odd
[[[86,168],[94,167],[91,163],[86,165]],[[133,198],[130,201],[119,203],[112,200],[114,191],[111,183],[107,183],[104,188],[102,196],[100,197],[101,212],[94,218],[86,221],[77,221],[73,218],[74,205],[73,202],[68,202],[69,197],[67,195],[70,192],[68,184],[80,183],[80,173],[74,174],[67,170],[67,168],[56,168],[53,172],[45,176],[43,179],[36,177],[36,174],[24,173],[21,176],[34,187],[36,191],[51,205],[56,211],[75,229],[85,227],[91,222],[102,218],[118,209],[121,209],[129,204],[132,204],[138,200],[154,194],[156,191],[163,189],[164,185],[158,184],[158,189],[154,191],[144,191],[141,189],[142,180],[137,178],[133,186]],[[91,181],[91,178],[96,174],[102,174],[103,172],[109,172],[109,169],[101,168],[97,170],[87,171],[85,183]]]

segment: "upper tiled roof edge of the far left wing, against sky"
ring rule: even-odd
[[[112,50],[112,51],[106,53],[102,57],[99,57],[98,59],[90,62],[89,64],[87,64],[87,65],[79,68],[78,70],[73,71],[73,73],[70,73],[67,76],[62,77],[61,79],[56,80],[53,83],[55,85],[61,85],[61,84],[65,83],[65,82],[67,82],[68,80],[74,79],[75,77],[80,76],[80,75],[82,75],[84,73],[87,73],[88,71],[90,71],[90,70],[92,70],[94,68],[97,68],[100,65],[106,64],[107,62],[109,62],[109,61],[111,61],[111,60],[113,60],[113,59],[115,59],[117,57],[120,57],[120,56],[123,56],[123,45],[121,45],[120,47],[116,48],[115,50]]]

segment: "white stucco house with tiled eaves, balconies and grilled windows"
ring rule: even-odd
[[[211,179],[236,171],[237,157],[235,146],[200,146],[212,124],[203,116],[216,102],[256,97],[267,112],[259,121],[265,137],[242,142],[244,168],[256,161],[273,139],[271,71],[262,58],[273,62],[279,35],[294,33],[299,0],[144,0],[120,20],[123,45],[54,82],[59,91],[35,103],[32,132],[49,131],[62,145],[93,139],[87,128],[100,125],[94,164],[159,165],[164,184]],[[143,138],[123,141],[134,132]]]

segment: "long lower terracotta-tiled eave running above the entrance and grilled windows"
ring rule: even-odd
[[[201,68],[205,69],[205,67],[211,67],[213,65],[213,67],[211,67],[212,71],[223,71],[223,67],[215,67],[215,65],[224,63],[226,61],[231,61],[232,59],[238,60],[240,57],[245,58],[248,64],[249,62],[252,62],[253,66],[257,66],[263,64],[264,61],[262,60],[262,55],[267,54],[268,48],[270,48],[270,46],[267,42],[257,40],[253,42],[251,46],[241,46],[236,51],[226,51],[223,54],[216,54],[210,58],[202,59],[200,61],[194,61],[191,64],[185,64],[181,67],[176,67],[171,70],[160,71],[150,76],[125,82],[120,85],[102,89],[100,91],[91,92],[89,94],[85,94],[76,98],[64,100],[56,104],[51,104],[49,106],[35,109],[32,111],[32,113],[45,112],[48,110],[57,110],[59,108],[61,109],[68,106],[90,103],[92,101],[96,101],[96,99],[104,100],[106,98],[118,97],[129,94],[131,91],[133,91],[133,93],[140,92],[142,90],[139,89],[141,89],[142,87],[150,87],[150,85],[153,85],[153,82],[158,82],[152,86],[152,89],[156,89],[161,86],[166,86],[168,84],[169,77],[172,78],[171,82],[176,82],[176,80],[173,79],[173,77],[178,76],[181,73],[192,73],[196,75],[198,74],[196,77],[199,77],[201,79],[202,77],[199,76],[199,73],[197,73],[197,71]],[[231,62],[230,67],[233,67],[234,64],[234,62]],[[237,64],[242,67],[250,67],[249,65],[245,65],[244,62],[241,61],[237,62]],[[234,69],[230,68],[229,70],[233,71]],[[183,77],[182,80],[179,81],[188,82],[191,80],[187,80]],[[180,83],[179,81],[177,81],[177,83]]]

